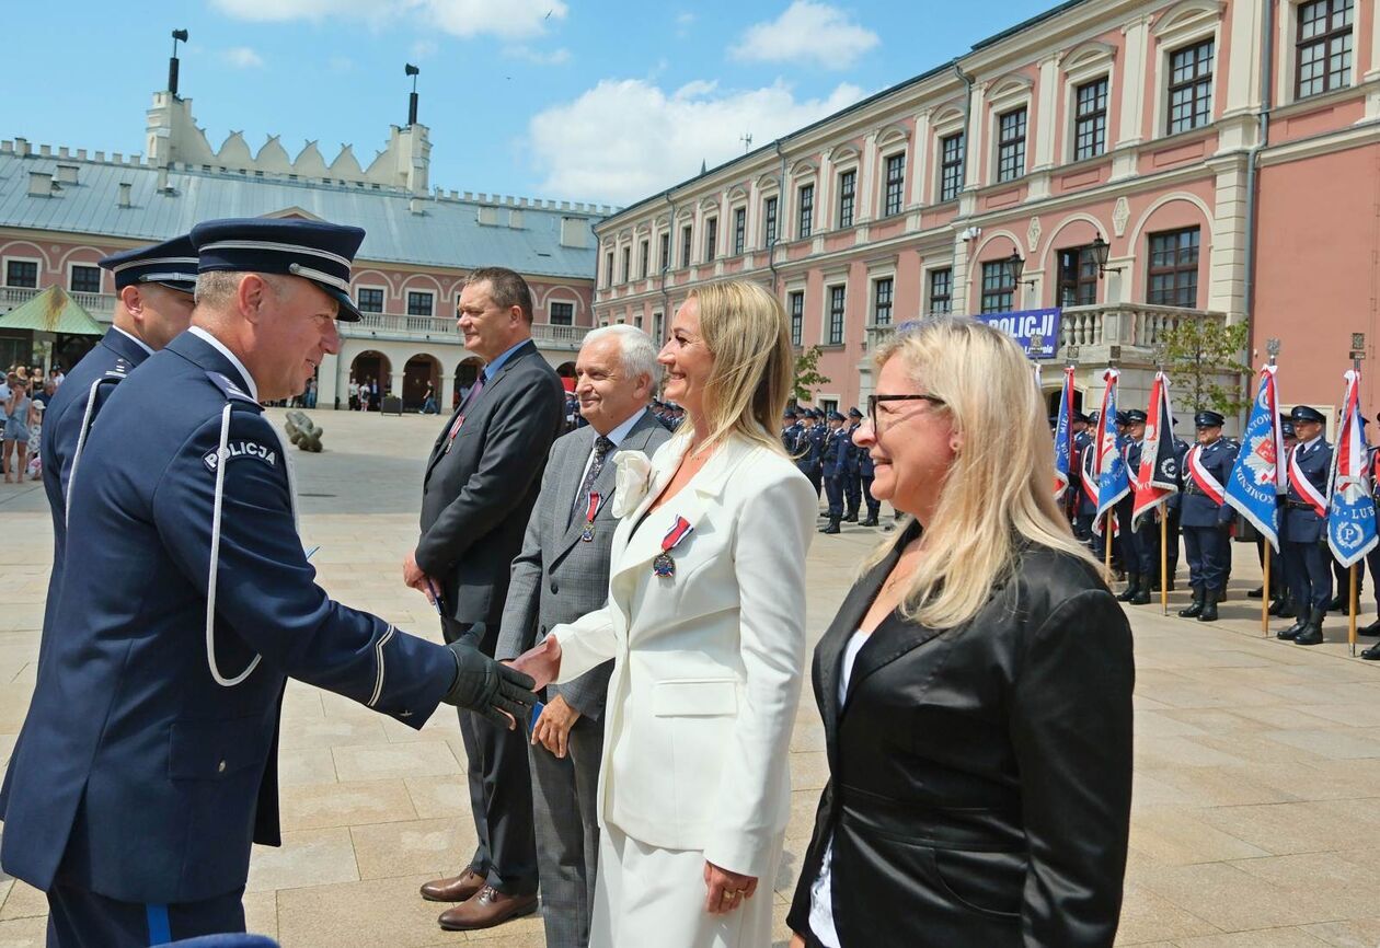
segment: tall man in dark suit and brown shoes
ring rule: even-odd
[[[504,268],[475,270],[460,294],[465,348],[486,366],[432,447],[422,483],[421,538],[404,582],[439,596],[446,642],[493,655],[509,564],[522,549],[564,389],[531,341],[531,290]],[[460,715],[469,758],[469,800],[479,846],[458,876],[422,886],[432,901],[460,902],[447,930],[489,929],[537,908],[537,851],[526,724],[497,727]]]

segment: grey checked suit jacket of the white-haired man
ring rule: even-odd
[[[542,642],[546,629],[592,613],[609,600],[609,557],[618,526],[613,516],[614,458],[622,451],[643,451],[651,457],[671,437],[671,432],[650,411],[643,413],[622,444],[604,458],[593,487],[602,498],[595,516],[595,538],[582,542],[584,511],[574,516],[570,512],[596,437],[598,432],[585,426],[551,446],[541,494],[527,522],[522,552],[512,562],[495,651],[498,658],[520,655]],[[581,715],[598,720],[603,713],[611,666],[613,662],[604,662],[574,682],[552,684],[546,689],[548,695],[560,694]]]

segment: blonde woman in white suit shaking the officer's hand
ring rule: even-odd
[[[689,424],[650,461],[618,455],[609,602],[518,665],[541,687],[614,660],[592,948],[756,948],[791,809],[817,511],[776,436],[785,312],[753,283],[700,287],[658,360]]]

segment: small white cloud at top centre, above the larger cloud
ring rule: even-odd
[[[729,52],[744,62],[810,61],[846,69],[880,41],[838,7],[793,0],[776,19],[749,26]]]

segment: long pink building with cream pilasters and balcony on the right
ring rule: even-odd
[[[1116,359],[1144,407],[1166,328],[1246,320],[1329,411],[1380,342],[1377,0],[1072,0],[595,233],[598,323],[660,335],[696,284],[759,280],[825,407],[900,322],[1058,306],[1052,399],[1070,360],[1093,407]]]

